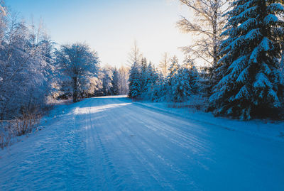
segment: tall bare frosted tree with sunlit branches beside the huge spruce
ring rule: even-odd
[[[219,60],[219,43],[226,23],[226,17],[222,15],[229,9],[227,0],[180,0],[180,3],[189,7],[195,13],[193,21],[183,17],[178,21],[178,27],[182,32],[193,33],[197,36],[193,45],[183,47],[182,50],[203,60],[209,67],[208,78],[212,85],[216,84],[215,70]],[[211,86],[212,86],[211,85]]]

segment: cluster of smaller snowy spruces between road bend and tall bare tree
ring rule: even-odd
[[[200,92],[200,74],[192,60],[179,65],[175,56],[169,61],[165,75],[146,58],[134,62],[129,77],[129,97],[151,99],[153,102],[186,102]]]

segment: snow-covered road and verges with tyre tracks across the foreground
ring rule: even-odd
[[[0,190],[284,190],[277,133],[166,110],[125,97],[56,107],[0,151]]]

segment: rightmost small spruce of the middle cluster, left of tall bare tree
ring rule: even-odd
[[[193,62],[185,62],[178,70],[176,79],[173,84],[173,102],[185,102],[190,95],[197,94],[199,75]]]

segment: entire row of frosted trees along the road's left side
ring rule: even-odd
[[[0,1],[0,120],[37,117],[57,99],[126,94],[127,80],[125,67],[100,67],[84,43],[58,45]]]

